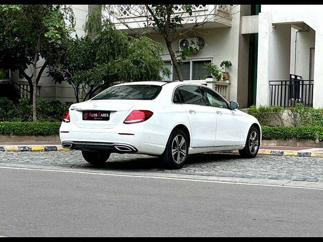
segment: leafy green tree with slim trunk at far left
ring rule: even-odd
[[[35,121],[37,84],[73,31],[74,13],[65,5],[0,5],[0,14],[0,66],[20,71],[28,81]],[[45,61],[37,67],[41,57]],[[29,65],[31,75],[26,73]]]

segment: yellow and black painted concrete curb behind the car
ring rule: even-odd
[[[71,149],[63,148],[62,145],[21,145],[21,146],[12,146],[5,145],[0,146],[0,151],[11,151],[11,152],[20,152],[20,151],[69,151]],[[226,152],[213,152],[213,153],[239,153],[238,150],[231,150]],[[304,157],[318,157],[323,158],[323,152],[303,152],[303,151],[286,151],[286,150],[264,150],[259,149],[259,155],[287,155],[287,156],[304,156]]]

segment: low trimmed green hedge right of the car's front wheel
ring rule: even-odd
[[[323,141],[323,127],[270,127],[262,126],[263,140],[319,140]]]

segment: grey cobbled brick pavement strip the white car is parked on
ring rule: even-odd
[[[1,163],[33,164],[73,168],[97,168],[87,163],[80,151],[0,152]],[[113,153],[100,169],[104,171],[150,171],[174,174],[243,178],[284,179],[323,183],[323,159],[317,157],[260,155],[243,159],[235,153],[190,155],[182,169],[167,170],[157,157]]]

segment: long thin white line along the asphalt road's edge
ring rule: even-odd
[[[308,188],[308,187],[270,185],[270,184],[235,183],[233,181],[201,180],[201,179],[175,178],[175,177],[149,176],[149,175],[123,175],[123,174],[109,174],[109,173],[97,173],[97,172],[85,172],[85,171],[48,170],[48,169],[19,168],[19,167],[6,167],[6,166],[0,166],[0,168],[17,169],[17,170],[56,171],[56,172],[68,172],[68,173],[92,174],[92,175],[109,175],[109,176],[124,176],[124,177],[139,177],[139,178],[155,178],[155,179],[169,179],[169,180],[186,180],[186,181],[199,181],[199,182],[202,182],[202,183],[223,183],[223,184],[238,184],[238,185],[262,186],[262,187],[300,188],[300,189],[311,189],[311,190],[323,190],[323,188]]]

